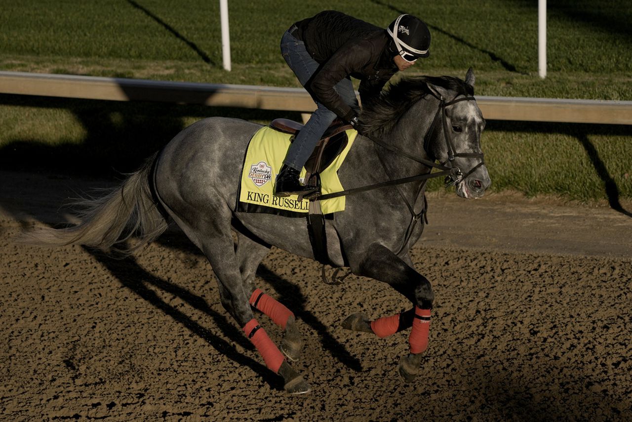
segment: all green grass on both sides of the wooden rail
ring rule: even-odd
[[[300,86],[279,54],[283,31],[322,9],[385,27],[401,12],[432,32],[406,75],[472,66],[485,96],[632,99],[632,3],[549,2],[547,78],[538,77],[537,2],[526,0],[229,2],[233,70],[222,69],[219,2],[22,0],[0,13],[0,70],[224,84]],[[554,4],[552,4],[554,3]],[[199,118],[269,121],[296,113],[0,95],[0,166],[71,173],[131,171]],[[632,129],[490,121],[493,189],[568,199],[632,199]],[[614,188],[613,188],[614,186]],[[431,183],[441,189],[440,183]],[[614,189],[614,190],[613,190]]]

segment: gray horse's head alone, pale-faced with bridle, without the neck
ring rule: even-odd
[[[428,156],[453,170],[446,183],[454,185],[456,194],[463,198],[482,197],[492,183],[480,146],[485,119],[473,97],[474,82],[471,68],[465,82],[458,78],[427,78],[427,87],[439,100],[439,109],[430,127],[432,133],[428,133],[430,142],[425,142],[424,148]]]

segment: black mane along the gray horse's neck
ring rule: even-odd
[[[373,135],[384,135],[415,102],[431,94],[428,84],[456,92],[456,95],[473,96],[474,88],[463,80],[450,76],[402,78],[380,93],[379,98],[362,104],[360,130]]]

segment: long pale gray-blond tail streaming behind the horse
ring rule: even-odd
[[[23,233],[18,242],[42,246],[80,244],[115,251],[129,256],[167,230],[166,218],[155,200],[154,164],[158,152],[119,187],[106,189],[106,195],[73,202],[80,221],[73,227],[40,228]],[[127,240],[135,236],[133,245]],[[115,246],[116,245],[116,246]]]

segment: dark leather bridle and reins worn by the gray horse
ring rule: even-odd
[[[463,180],[469,175],[471,175],[471,173],[477,170],[477,168],[485,164],[485,161],[483,161],[482,153],[456,152],[456,148],[454,147],[454,142],[451,139],[449,135],[450,132],[448,131],[448,128],[447,128],[446,107],[452,106],[453,104],[456,104],[457,102],[476,101],[476,99],[474,97],[457,98],[458,97],[457,96],[453,100],[446,102],[446,99],[443,96],[437,95],[432,91],[430,93],[432,94],[433,97],[439,100],[439,107],[437,108],[437,113],[434,116],[434,120],[432,120],[432,123],[430,124],[430,128],[428,128],[427,132],[425,133],[423,137],[423,149],[428,155],[428,157],[431,158],[431,160],[416,157],[408,151],[404,151],[403,149],[400,149],[398,147],[394,147],[390,144],[386,144],[386,142],[384,142],[383,140],[379,138],[376,138],[372,135],[368,135],[367,133],[360,133],[361,135],[372,140],[375,144],[379,145],[380,147],[383,147],[384,149],[387,149],[391,152],[395,152],[396,154],[399,154],[403,157],[406,157],[408,159],[416,161],[417,163],[420,163],[420,164],[423,164],[424,166],[429,167],[431,170],[430,173],[423,173],[416,176],[404,177],[404,178],[399,178],[395,180],[388,180],[387,182],[375,183],[374,185],[358,187],[355,189],[341,190],[340,192],[333,192],[331,194],[318,195],[314,199],[319,199],[320,201],[324,201],[325,199],[332,199],[332,198],[337,198],[341,196],[357,194],[360,192],[366,192],[367,190],[380,189],[382,187],[387,187],[387,186],[392,186],[392,185],[401,185],[403,183],[418,182],[420,180],[425,181],[425,180],[428,180],[430,178],[435,178],[435,177],[446,177],[446,185],[454,185],[458,183],[460,180]],[[430,151],[429,147],[430,147],[430,139],[432,137],[432,134],[435,131],[435,127],[440,117],[441,117],[441,124],[443,126],[444,140],[446,141],[446,146],[447,146],[447,160],[443,161],[442,163],[437,164],[435,163],[436,160],[434,159],[434,155],[432,154],[432,151]],[[468,171],[467,173],[465,173],[465,175],[463,175],[463,173],[461,173],[461,169],[459,169],[457,166],[454,165],[454,159],[458,157],[480,158],[480,163],[478,163],[476,166],[471,168],[470,171]],[[450,163],[450,166],[446,165],[448,163]],[[384,166],[384,163],[382,163],[382,166]],[[432,168],[437,168],[441,171],[435,171],[435,173],[432,173]],[[387,174],[388,174],[388,171],[387,171]]]

